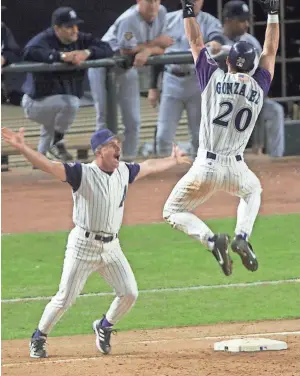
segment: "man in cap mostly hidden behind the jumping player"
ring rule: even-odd
[[[224,51],[237,41],[251,43],[257,53],[256,66],[262,53],[259,41],[247,33],[249,29],[250,12],[248,5],[240,0],[232,0],[225,4],[223,8],[223,28],[224,28]],[[227,54],[225,54],[227,56]],[[225,60],[218,61],[219,65],[226,70]],[[255,67],[256,67],[255,66]],[[252,70],[252,73],[255,70]],[[265,98],[262,110],[257,119],[256,128],[253,133],[253,150],[261,153],[264,144],[264,133],[266,135],[266,151],[271,157],[282,157],[284,155],[285,133],[284,133],[284,109],[276,101]],[[265,132],[264,132],[265,131]]]

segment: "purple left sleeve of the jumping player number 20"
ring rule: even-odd
[[[217,62],[210,56],[206,48],[202,48],[196,62],[196,73],[201,92],[203,92],[212,76],[218,69]]]

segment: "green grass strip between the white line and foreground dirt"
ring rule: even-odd
[[[170,293],[141,293],[117,325],[120,330],[214,324],[228,321],[299,317],[299,284]],[[51,336],[92,334],[92,322],[112,297],[83,297],[66,312]],[[45,301],[4,304],[2,339],[27,338],[35,329]]]

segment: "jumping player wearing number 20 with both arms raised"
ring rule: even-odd
[[[202,118],[197,158],[169,196],[163,216],[186,234],[202,242],[225,275],[232,273],[228,234],[214,234],[191,212],[215,192],[240,198],[235,236],[231,248],[250,271],[258,268],[249,243],[261,202],[261,185],[244,162],[243,153],[274,76],[279,44],[279,0],[264,0],[268,12],[263,52],[251,76],[256,52],[245,41],[235,43],[227,59],[228,73],[218,67],[205,48],[193,11],[193,0],[182,0],[185,33],[192,50],[202,92]]]

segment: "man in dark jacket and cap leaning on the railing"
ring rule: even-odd
[[[112,56],[108,43],[79,31],[83,23],[74,9],[57,8],[51,27],[33,37],[25,46],[25,61],[64,62],[78,65],[85,60]],[[72,125],[83,96],[85,70],[28,73],[23,84],[25,116],[41,124],[38,151],[49,158],[72,160],[64,135]]]

